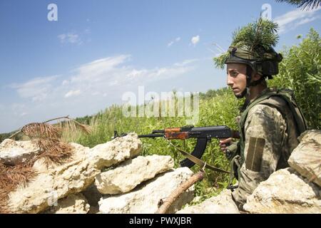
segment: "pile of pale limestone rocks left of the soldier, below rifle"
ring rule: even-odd
[[[12,213],[148,213],[193,172],[173,169],[170,156],[139,156],[136,134],[88,148],[71,143],[73,157],[63,165],[34,163],[37,175],[26,186],[10,192]],[[37,152],[30,141],[4,140],[0,159],[4,164],[23,161]],[[102,172],[102,170],[106,170]],[[193,199],[193,187],[175,202],[171,212]]]

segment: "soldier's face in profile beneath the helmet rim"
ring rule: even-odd
[[[228,63],[227,65],[227,84],[238,98],[246,88],[246,65],[240,63]]]

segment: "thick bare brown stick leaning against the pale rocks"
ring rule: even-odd
[[[192,177],[190,177],[186,182],[183,182],[182,185],[178,186],[178,188],[176,188],[174,192],[172,192],[172,194],[170,194],[170,196],[166,200],[161,199],[161,203],[159,203],[161,204],[161,207],[158,208],[156,214],[167,213],[170,205],[173,204],[173,202],[175,202],[176,199],[178,199],[178,197],[180,197],[180,195],[183,194],[183,192],[188,190],[190,186],[194,185],[195,182],[203,180],[204,175],[205,172],[203,170],[200,170],[199,172],[195,173]]]

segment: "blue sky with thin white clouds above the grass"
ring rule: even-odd
[[[49,21],[49,4],[58,21]],[[60,115],[92,115],[127,91],[205,92],[225,86],[212,58],[263,4],[292,46],[320,10],[275,1],[0,1],[0,133]]]

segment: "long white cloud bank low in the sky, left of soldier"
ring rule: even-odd
[[[134,68],[126,64],[130,55],[101,58],[74,68],[68,75],[34,78],[26,83],[11,86],[21,98],[30,98],[38,103],[50,103],[78,95],[110,94],[111,91],[133,88],[138,85],[183,76],[193,71],[192,63],[198,59],[187,59],[171,66]]]

